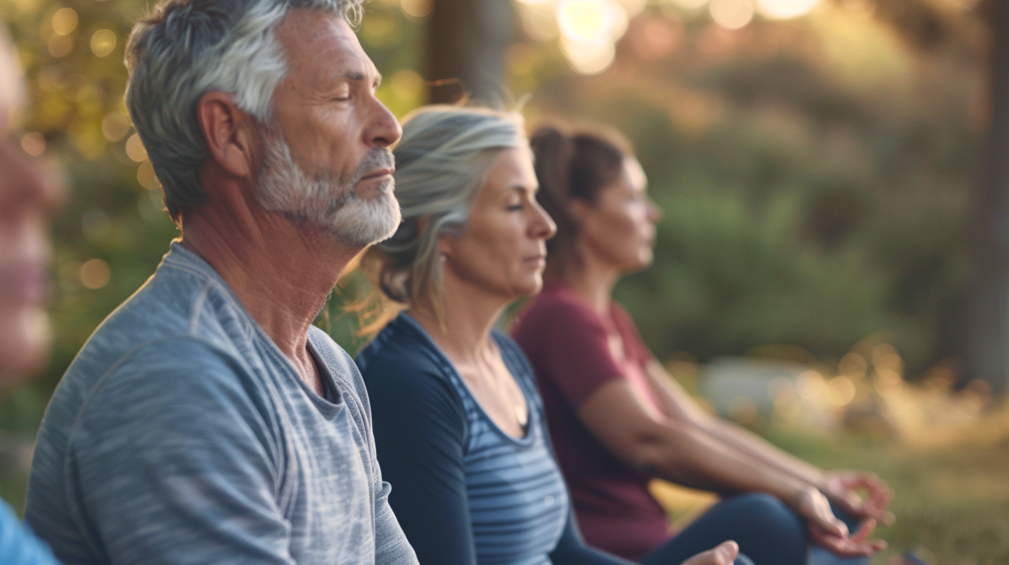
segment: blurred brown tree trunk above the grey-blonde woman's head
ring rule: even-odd
[[[496,105],[507,99],[502,78],[512,28],[511,0],[434,0],[428,28],[431,101],[468,95]]]

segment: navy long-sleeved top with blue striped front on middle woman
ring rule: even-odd
[[[581,541],[532,369],[494,332],[529,406],[513,438],[483,412],[427,332],[402,313],[358,356],[389,504],[422,565],[614,565]]]

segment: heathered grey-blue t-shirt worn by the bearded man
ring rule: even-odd
[[[67,565],[416,565],[350,357],[326,399],[180,243],[95,331],[42,421],[25,518]]]

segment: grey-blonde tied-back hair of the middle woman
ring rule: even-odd
[[[393,151],[403,223],[365,256],[385,297],[431,308],[444,323],[438,238],[461,232],[495,158],[524,144],[517,113],[433,105],[404,119]]]

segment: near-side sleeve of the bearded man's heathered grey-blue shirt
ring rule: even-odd
[[[115,565],[294,565],[277,439],[225,354],[180,338],[106,376],[71,438],[77,520]]]

